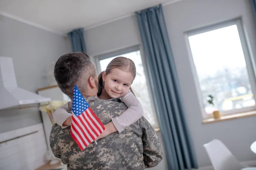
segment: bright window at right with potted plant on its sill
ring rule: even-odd
[[[216,108],[222,115],[255,110],[255,78],[240,20],[190,31],[186,40],[204,118]]]

